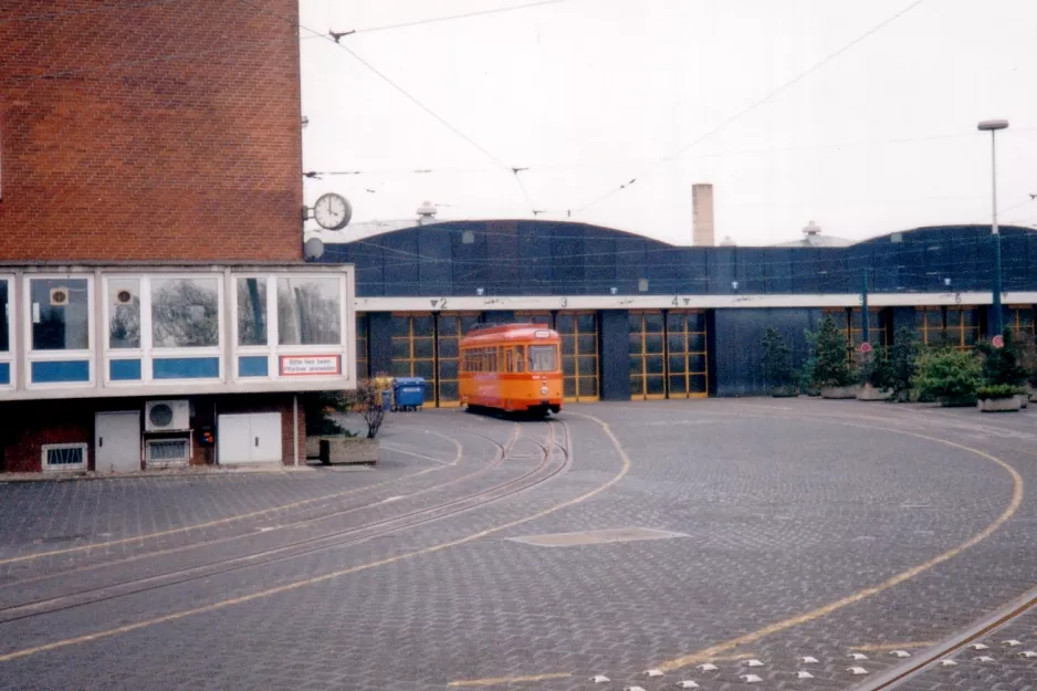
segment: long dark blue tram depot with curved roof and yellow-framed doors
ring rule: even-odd
[[[573,222],[427,219],[320,261],[356,270],[358,376],[421,376],[427,405],[458,406],[458,343],[478,323],[548,324],[568,401],[765,392],[761,339],[777,328],[800,364],[830,315],[848,347],[974,346],[993,327],[989,226],[904,230],[859,243],[679,247]],[[1002,228],[1004,321],[1034,337],[1037,233]],[[839,245],[842,247],[839,247]],[[867,313],[862,311],[867,291]]]

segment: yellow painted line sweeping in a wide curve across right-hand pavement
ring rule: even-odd
[[[809,416],[799,413],[799,417],[809,417]],[[814,417],[824,419],[823,416],[814,416]],[[871,431],[881,430],[881,431],[887,431],[887,432],[893,432],[897,435],[907,435],[910,437],[915,437],[918,439],[924,439],[926,441],[934,441],[934,442],[942,443],[942,444],[953,447],[956,449],[962,449],[963,451],[975,453],[976,456],[981,458],[985,458],[989,461],[993,461],[994,463],[996,463],[997,465],[1006,470],[1009,475],[1012,475],[1012,501],[1009,502],[1008,507],[1005,509],[1005,511],[993,523],[987,525],[983,531],[972,536],[967,541],[963,542],[962,544],[957,545],[956,547],[949,549],[947,552],[944,552],[940,556],[933,557],[932,559],[923,564],[919,564],[918,566],[913,568],[909,568],[905,572],[901,572],[897,574],[895,576],[888,578],[887,580],[880,583],[877,586],[872,586],[870,588],[863,588],[861,590],[858,590],[857,593],[848,595],[834,603],[829,603],[828,605],[818,607],[817,609],[813,609],[808,613],[805,613],[795,617],[789,617],[788,619],[784,619],[782,621],[776,621],[774,624],[765,626],[750,634],[739,636],[737,638],[732,638],[731,640],[727,640],[722,643],[710,646],[709,648],[705,648],[698,652],[692,652],[690,655],[685,655],[680,658],[667,660],[666,662],[662,662],[661,664],[658,666],[659,669],[661,669],[662,671],[673,671],[673,670],[681,669],[683,667],[688,667],[690,664],[698,664],[700,662],[705,662],[710,659],[715,658],[717,655],[727,652],[730,650],[734,650],[735,648],[740,648],[742,646],[754,643],[762,638],[766,638],[767,636],[778,634],[786,629],[790,629],[793,627],[800,626],[803,624],[808,624],[816,619],[820,619],[821,617],[828,616],[835,611],[838,611],[839,609],[857,604],[861,600],[865,600],[880,593],[884,593],[886,590],[889,590],[890,588],[898,586],[901,583],[910,580],[914,578],[915,576],[923,574],[932,569],[933,567],[939,566],[940,564],[943,564],[944,562],[956,557],[962,552],[965,552],[966,549],[980,544],[981,542],[989,537],[994,533],[994,531],[996,531],[1002,525],[1004,525],[1008,521],[1008,519],[1010,519],[1013,514],[1015,514],[1015,512],[1019,509],[1019,505],[1023,503],[1024,482],[1023,482],[1022,475],[1019,475],[1019,473],[1016,472],[1016,470],[1012,465],[1009,465],[1008,463],[1006,463],[1005,461],[1001,460],[999,458],[995,456],[992,456],[978,449],[973,449],[972,447],[966,447],[964,444],[960,444],[953,441],[947,441],[946,439],[940,439],[938,437],[929,437],[926,435],[920,435],[918,432],[910,432],[910,431],[902,430],[902,429],[894,429],[890,427],[876,427],[876,426],[870,426],[870,425],[853,425],[851,422],[845,422],[841,420],[831,420],[831,421],[837,425],[846,425],[848,427],[859,427],[861,429],[867,429]]]

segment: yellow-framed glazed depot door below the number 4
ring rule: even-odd
[[[630,398],[702,398],[709,390],[705,313],[632,311]]]

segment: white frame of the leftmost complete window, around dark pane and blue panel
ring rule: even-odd
[[[32,282],[33,281],[86,281],[86,342],[87,347],[67,349],[67,350],[36,350],[32,344]],[[22,305],[22,335],[23,352],[21,354],[21,365],[25,371],[27,390],[45,389],[91,389],[97,386],[97,310],[95,282],[93,273],[54,273],[54,272],[30,272],[22,274],[21,280],[21,305]],[[10,303],[10,299],[8,301]],[[54,363],[62,360],[86,360],[87,379],[86,381],[33,381],[32,365],[34,363]],[[12,373],[13,375],[13,373]],[[14,377],[11,377],[14,380]]]

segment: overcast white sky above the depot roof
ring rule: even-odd
[[[306,203],[338,191],[355,222],[426,199],[440,220],[572,210],[684,244],[691,185],[712,182],[717,242],[811,219],[861,239],[988,222],[976,123],[1006,118],[1001,220],[1037,224],[1034,0],[924,0],[733,122],[913,0],[565,0],[365,31],[532,1],[302,0],[304,28],[357,30],[342,44],[490,154],[303,29],[304,169],[364,171],[306,180]]]

